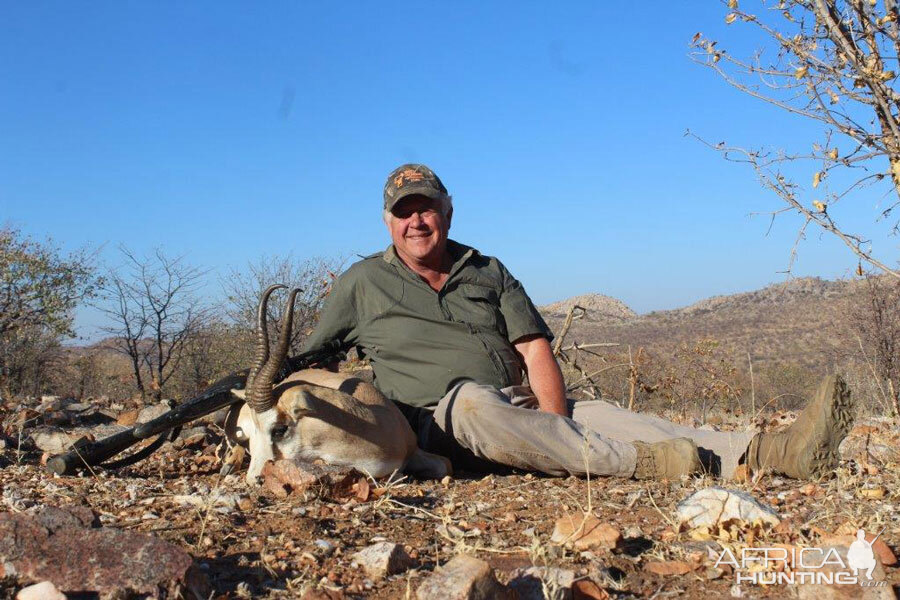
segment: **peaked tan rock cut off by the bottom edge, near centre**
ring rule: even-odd
[[[494,577],[490,565],[468,554],[458,554],[435,569],[416,590],[418,600],[494,600],[511,594]]]

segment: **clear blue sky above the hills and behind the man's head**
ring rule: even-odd
[[[451,237],[538,303],[600,292],[646,312],[783,278],[796,218],[765,237],[748,215],[777,200],[683,135],[812,141],[690,61],[696,31],[748,43],[717,3],[0,13],[0,223],[64,248],[162,246],[212,268],[214,295],[264,254],[383,249],[384,178],[418,161],[454,196]],[[812,235],[795,274],[853,267]]]

